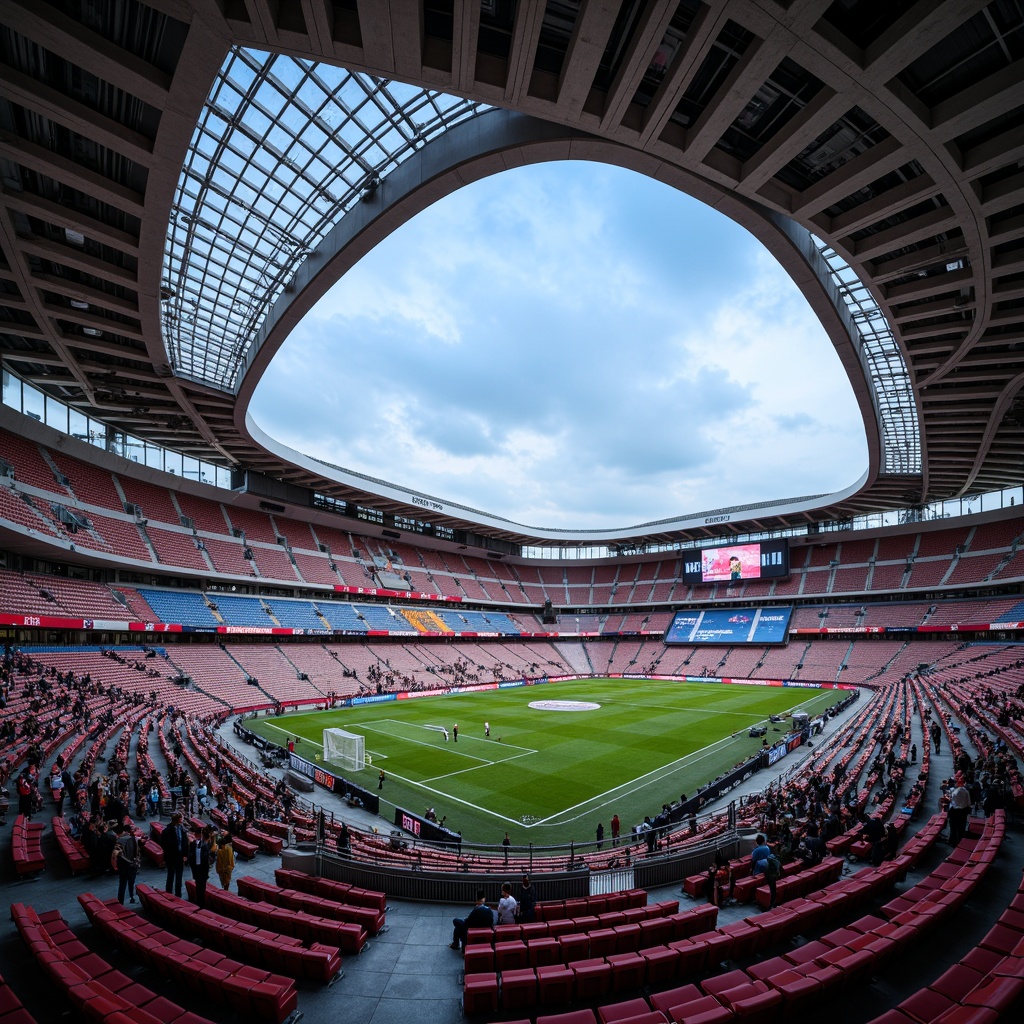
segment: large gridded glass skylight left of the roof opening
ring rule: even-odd
[[[230,389],[273,301],[367,178],[486,109],[330,65],[231,50],[168,225],[163,330],[175,370]]]

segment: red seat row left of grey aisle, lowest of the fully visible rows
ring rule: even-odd
[[[130,955],[195,989],[257,1020],[282,1022],[295,1010],[295,982],[262,968],[250,967],[144,921],[116,899],[79,896],[92,925]]]

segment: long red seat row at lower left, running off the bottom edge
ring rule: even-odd
[[[11,920],[52,981],[88,1020],[102,1024],[210,1024],[115,971],[75,937],[58,910],[38,914],[13,903]],[[141,920],[141,919],[139,919]],[[8,1017],[0,1017],[8,1024]],[[22,1019],[10,1018],[10,1024]]]

